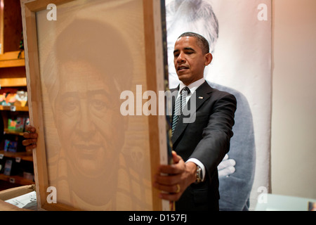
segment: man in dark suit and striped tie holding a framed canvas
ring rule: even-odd
[[[171,91],[177,91],[186,106],[180,115],[173,112],[173,165],[159,167],[154,187],[162,191],[160,198],[176,201],[176,210],[218,210],[217,167],[230,149],[237,101],[205,82],[204,68],[212,55],[204,37],[181,34],[173,55],[180,84]],[[173,103],[177,111],[174,105],[177,103]],[[185,118],[188,113],[190,117]]]

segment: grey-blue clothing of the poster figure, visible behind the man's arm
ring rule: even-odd
[[[246,96],[240,91],[228,86],[208,83],[214,89],[233,94],[238,103],[235,112],[235,124],[232,127],[234,136],[230,139],[230,151],[228,153],[229,158],[236,162],[235,172],[229,174],[229,176],[218,176],[219,210],[248,211],[256,170],[256,144],[251,109]]]

